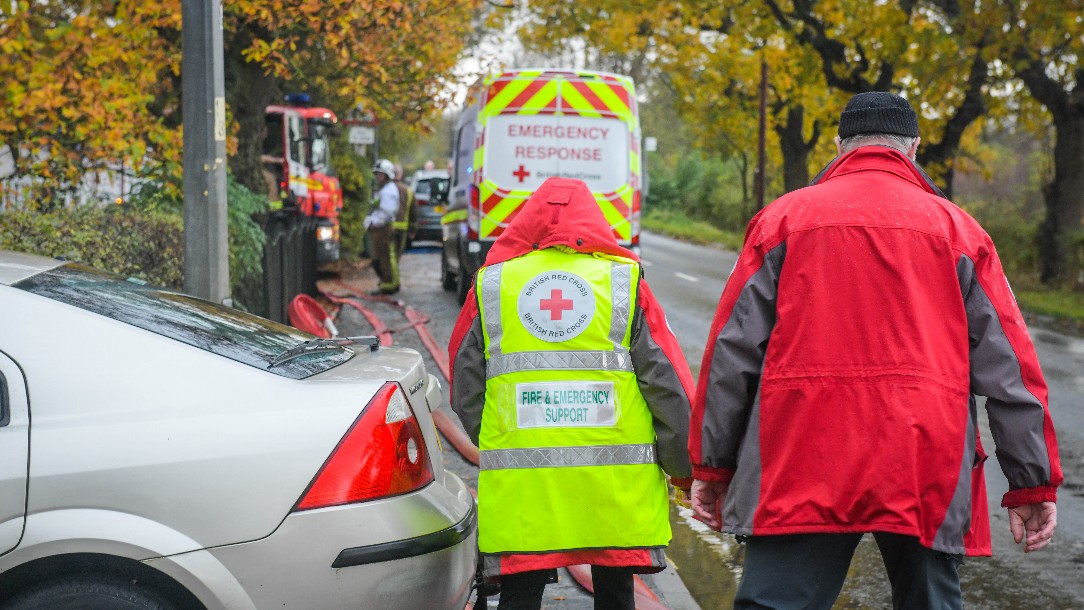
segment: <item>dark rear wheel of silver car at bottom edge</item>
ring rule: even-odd
[[[38,583],[0,602],[3,610],[180,610],[140,581],[79,575]]]

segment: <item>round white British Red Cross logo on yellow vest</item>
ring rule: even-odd
[[[595,314],[595,293],[567,271],[546,271],[519,291],[519,321],[543,341],[567,341],[586,329]]]

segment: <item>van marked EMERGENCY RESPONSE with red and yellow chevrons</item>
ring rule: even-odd
[[[547,178],[588,184],[617,241],[640,248],[640,118],[632,79],[521,69],[470,87],[441,219],[441,283],[466,298],[490,246]]]

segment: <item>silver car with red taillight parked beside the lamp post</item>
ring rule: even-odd
[[[463,608],[417,352],[0,251],[0,608]]]

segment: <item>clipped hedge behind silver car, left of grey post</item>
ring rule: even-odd
[[[164,210],[8,210],[0,213],[0,249],[63,257],[170,288],[183,284],[183,224],[179,215]]]

